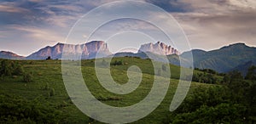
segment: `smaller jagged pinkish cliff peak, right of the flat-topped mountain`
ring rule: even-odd
[[[160,55],[179,54],[177,49],[172,48],[171,46],[168,46],[163,42],[150,42],[148,44],[143,44],[141,48],[139,48],[138,53],[143,52],[151,52]]]

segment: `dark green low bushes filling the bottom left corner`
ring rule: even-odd
[[[54,104],[0,95],[0,123],[60,123],[63,119]]]

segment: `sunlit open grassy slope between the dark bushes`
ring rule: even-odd
[[[94,70],[95,60],[83,60],[81,62],[84,82],[89,87],[90,92],[96,96],[97,99],[104,104],[112,106],[128,106],[136,104],[145,98],[151,90],[154,81],[154,70],[152,63],[148,59],[137,58],[114,58],[114,60],[122,60],[124,65],[111,66],[111,74],[115,82],[124,84],[128,81],[126,70],[131,65],[137,65],[143,72],[143,81],[139,87],[132,93],[119,95],[110,93],[102,87],[96,77]],[[65,115],[61,123],[90,123],[92,120],[85,116],[72,103],[67,95],[66,88],[62,81],[61,75],[61,60],[19,60],[20,65],[23,65],[24,70],[32,72],[33,82],[22,82],[22,76],[7,76],[0,80],[0,94],[9,94],[20,96],[28,100],[40,99],[41,104],[55,104],[61,106],[60,110]],[[79,62],[78,62],[79,63]],[[176,91],[179,69],[180,67],[170,65],[172,80],[168,88],[165,99],[160,106],[145,118],[135,121],[133,123],[162,123],[166,119],[166,115],[170,114],[170,104],[172,97]],[[194,73],[201,73],[195,70]],[[218,77],[222,78],[222,77]],[[209,87],[209,84],[192,82],[189,93],[193,92],[195,87]],[[50,96],[49,93],[54,88],[55,94]],[[93,123],[100,123],[93,121]]]

